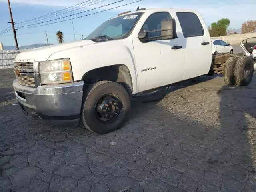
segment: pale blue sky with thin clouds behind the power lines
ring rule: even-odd
[[[65,20],[71,18],[71,12],[66,12],[60,16],[48,18],[45,20],[40,20],[39,18],[37,22],[32,22],[36,20],[32,20],[30,22],[24,22],[26,20],[30,20],[33,18],[37,18],[40,16],[44,16],[46,14],[50,14],[52,12],[56,12],[58,10],[62,10],[64,8],[74,6],[75,4],[79,4],[85,2],[86,0],[10,0],[13,20],[16,22],[16,27],[24,26],[29,24],[35,24],[38,22],[44,22],[46,20],[52,20],[55,18],[68,16],[66,18],[60,19]],[[88,1],[88,0],[87,0]],[[79,10],[73,9],[72,14],[76,14],[82,11],[86,11],[81,14],[74,15],[73,17],[82,16],[86,14],[95,13],[98,11],[106,10],[109,8],[114,8],[116,6],[120,6],[123,4],[128,4],[130,2],[134,2],[136,0],[124,0],[122,2],[118,2],[112,5],[104,6],[113,2],[117,2],[118,0],[89,0],[82,6],[87,6],[81,8]],[[100,6],[104,6],[102,8],[98,8]],[[210,26],[212,22],[217,22],[221,18],[230,19],[230,28],[240,29],[243,22],[247,20],[255,20],[255,8],[256,8],[256,0],[143,0],[140,2],[136,2],[134,4],[122,6],[119,8],[115,8],[112,10],[108,10],[105,12],[92,14],[90,16],[85,16],[82,18],[73,19],[74,24],[74,33],[76,40],[82,39],[81,35],[84,38],[92,32],[97,26],[99,26],[105,20],[108,20],[110,17],[116,16],[117,14],[131,10],[135,11],[136,8],[140,6],[140,8],[188,8],[188,9],[196,9],[198,10],[206,22],[207,26]],[[96,8],[94,10],[90,10]],[[90,10],[90,11],[88,11]],[[64,12],[62,12],[64,13]],[[59,13],[60,14],[60,13]],[[50,17],[47,16],[47,17]],[[60,21],[60,20],[55,20]],[[7,0],[0,0],[0,31],[5,30],[11,25],[10,22],[10,14],[8,10]],[[53,21],[54,22],[54,21]],[[19,24],[19,25],[18,25]],[[42,23],[42,24],[47,24]],[[30,45],[34,43],[46,43],[46,35],[45,31],[48,34],[48,42],[49,43],[57,43],[56,40],[56,32],[60,30],[64,33],[64,41],[74,41],[74,33],[73,33],[73,25],[72,20],[68,20],[65,22],[60,22],[56,24],[50,24],[40,27],[34,28],[24,28],[17,30],[17,39],[19,46]],[[0,42],[4,44],[4,46],[15,45],[12,30],[6,32],[5,34],[0,35]]]

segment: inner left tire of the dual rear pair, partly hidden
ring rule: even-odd
[[[234,85],[234,66],[236,64],[236,61],[239,57],[230,57],[228,60],[226,60],[225,67],[224,67],[224,82],[228,85]]]

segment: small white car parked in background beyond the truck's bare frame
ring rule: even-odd
[[[233,53],[234,49],[230,44],[227,44],[226,42],[220,40],[220,39],[214,39],[212,40],[212,54],[217,53]]]

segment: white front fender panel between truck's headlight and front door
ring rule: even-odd
[[[130,71],[133,94],[138,92],[132,36],[63,50],[52,54],[48,60],[59,58],[70,58],[74,81],[81,80],[83,75],[90,70],[123,64]]]

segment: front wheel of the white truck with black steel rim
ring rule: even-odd
[[[97,82],[84,93],[81,120],[93,132],[107,134],[118,130],[129,114],[128,92],[116,82]]]

